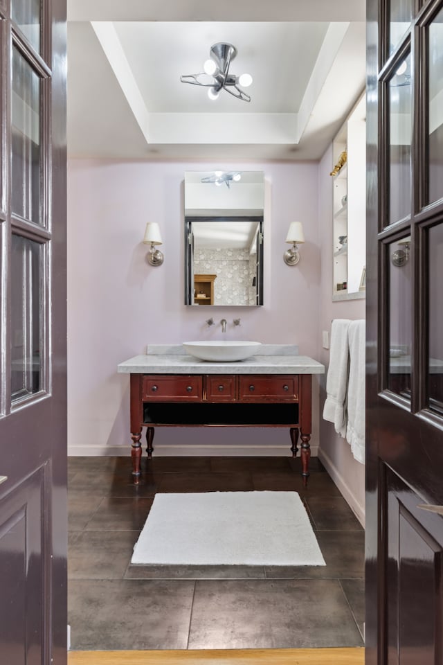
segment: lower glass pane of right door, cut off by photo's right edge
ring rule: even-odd
[[[443,224],[429,230],[428,407],[443,416]]]

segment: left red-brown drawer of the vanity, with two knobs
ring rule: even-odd
[[[201,402],[202,398],[201,376],[160,374],[143,377],[143,402]]]

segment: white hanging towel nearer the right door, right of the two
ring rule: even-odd
[[[365,463],[365,321],[349,326],[349,385],[347,389],[347,442],[355,459]]]

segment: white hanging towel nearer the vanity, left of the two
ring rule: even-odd
[[[326,401],[323,418],[334,423],[335,431],[346,436],[346,394],[349,372],[349,319],[334,319],[331,328],[331,351],[326,378]]]

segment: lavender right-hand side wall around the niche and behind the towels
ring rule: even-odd
[[[365,300],[332,302],[332,148],[318,167],[318,230],[321,238],[320,320],[322,330],[331,331],[332,319],[364,319]],[[318,360],[329,366],[329,351],[319,345]],[[326,375],[320,380],[320,450],[318,456],[361,522],[365,515],[365,467],[356,462],[350,445],[321,418],[326,398]]]

